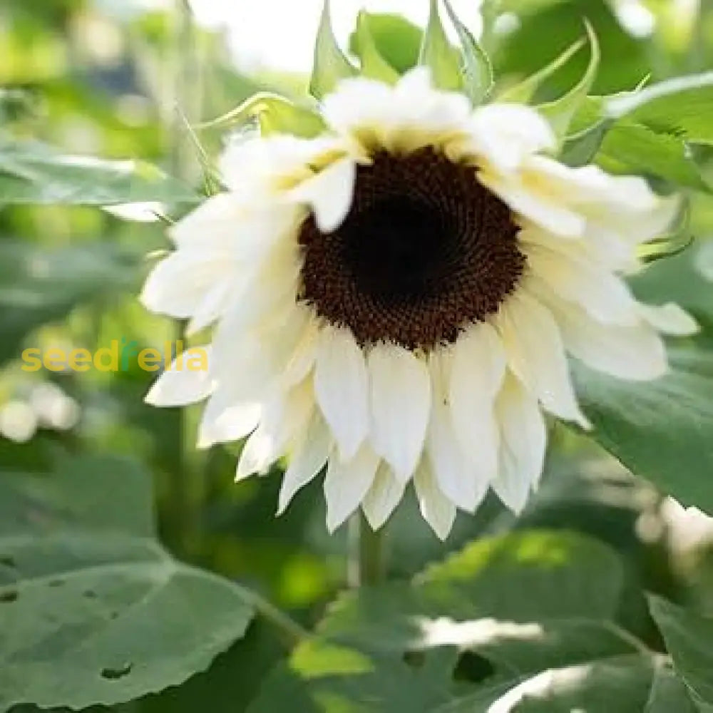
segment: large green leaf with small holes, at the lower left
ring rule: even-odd
[[[250,593],[158,545],[149,476],[128,461],[4,472],[0,502],[0,710],[114,705],[181,684],[252,619]]]

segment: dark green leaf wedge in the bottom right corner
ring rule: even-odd
[[[701,702],[713,705],[713,619],[655,596],[649,608],[677,673]]]

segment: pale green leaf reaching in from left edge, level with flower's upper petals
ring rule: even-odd
[[[0,205],[198,201],[188,185],[143,161],[63,156],[41,143],[0,140]]]

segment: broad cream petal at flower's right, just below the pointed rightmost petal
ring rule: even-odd
[[[647,324],[600,324],[573,304],[554,304],[565,347],[587,366],[629,381],[650,381],[668,370],[666,348]]]

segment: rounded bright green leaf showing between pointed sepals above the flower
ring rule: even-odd
[[[369,25],[369,34],[379,55],[397,73],[404,74],[419,63],[419,51],[424,32],[401,15],[362,11]],[[360,55],[356,31],[349,38],[349,48]]]

